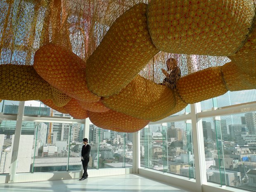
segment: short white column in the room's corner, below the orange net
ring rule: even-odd
[[[133,173],[140,168],[140,131],[133,133]]]

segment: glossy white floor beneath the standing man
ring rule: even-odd
[[[0,192],[187,192],[139,175],[1,184]]]

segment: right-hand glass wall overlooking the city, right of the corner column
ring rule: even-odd
[[[206,112],[256,101],[256,90],[227,92],[197,104]],[[190,105],[175,115],[190,113]],[[197,118],[208,182],[256,191],[256,111]],[[187,113],[186,113],[187,114]],[[174,118],[175,119],[175,118]],[[140,130],[141,167],[195,178],[191,120],[149,124]],[[195,178],[196,179],[196,178]]]

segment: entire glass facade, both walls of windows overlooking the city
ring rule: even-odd
[[[199,108],[195,127],[191,116],[194,112],[188,105],[171,116],[173,121],[149,123],[140,130],[140,146],[133,146],[132,133],[104,130],[92,123],[85,130],[84,123],[40,122],[39,116],[70,116],[39,101],[27,101],[24,117],[38,117],[38,121],[21,123],[16,173],[81,170],[82,139],[88,135],[89,169],[132,167],[133,147],[139,147],[141,168],[197,179],[193,139],[196,129],[203,135],[199,146],[204,151],[207,182],[256,192],[256,110],[247,109],[248,104],[255,106],[255,95],[256,90],[227,92],[196,104]],[[16,130],[15,118],[10,116],[17,114],[18,107],[16,101],[0,102],[0,114],[9,118],[0,121],[1,174],[10,171]],[[242,109],[209,115],[232,107]],[[185,114],[189,119],[180,118]],[[176,117],[183,120],[175,121]]]

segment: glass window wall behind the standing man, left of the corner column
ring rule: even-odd
[[[18,107],[16,101],[0,102],[3,115],[17,114]],[[70,118],[40,101],[26,101],[24,116],[39,115]],[[15,130],[16,121],[0,121],[0,174],[10,171]],[[23,121],[16,173],[81,170],[84,131],[85,125],[81,123]],[[88,139],[91,145],[89,169],[133,166],[131,133],[104,130],[91,124]]]

